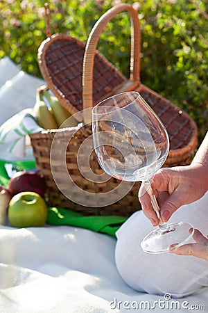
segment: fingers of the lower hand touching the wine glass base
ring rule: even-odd
[[[173,248],[173,245],[171,245],[170,248]],[[173,250],[169,250],[169,252],[175,253],[175,255],[199,257],[200,259],[206,259],[208,261],[208,245],[205,245],[204,243],[189,243]]]

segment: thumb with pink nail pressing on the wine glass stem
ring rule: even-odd
[[[171,215],[184,204],[184,196],[180,191],[174,191],[172,195],[168,197],[166,202],[160,209],[160,216],[162,222],[165,223],[171,217]]]

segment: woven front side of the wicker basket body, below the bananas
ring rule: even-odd
[[[78,150],[80,148],[80,145],[83,143],[83,141],[85,141],[89,134],[91,134],[91,127],[82,127],[81,130],[77,131],[76,135],[73,136],[73,138],[71,139],[70,144],[67,147],[67,152],[65,154],[67,170],[69,172],[71,179],[73,179],[73,182],[80,189],[83,189],[84,191],[88,192],[86,203],[90,202],[90,193],[99,193],[100,195],[103,194],[104,202],[106,193],[108,191],[114,189],[115,193],[119,193],[119,188],[117,187],[119,186],[119,184],[121,184],[121,181],[118,181],[118,179],[112,177],[105,183],[95,184],[94,182],[86,179],[80,173],[77,164]],[[60,162],[60,154],[62,154],[62,150],[59,149],[58,145],[57,150],[54,152],[52,159],[53,175],[56,177],[56,182],[58,182],[58,186],[62,190],[62,192],[58,190],[58,187],[54,182],[53,175],[51,172],[50,166],[51,160],[49,154],[49,150],[51,148],[54,136],[56,143],[60,142],[61,146],[64,145],[64,143],[67,145],[67,143],[69,143],[71,131],[70,129],[63,129],[58,132],[51,130],[44,132],[43,134],[41,134],[41,136],[40,134],[32,135],[33,150],[35,154],[35,159],[37,161],[37,169],[40,170],[41,174],[44,176],[44,179],[46,181],[46,185],[48,187],[47,200],[49,200],[49,203],[51,205],[58,207],[66,207],[85,215],[113,214],[121,216],[130,216],[130,214],[132,214],[133,211],[137,211],[139,209],[139,201],[137,194],[139,191],[140,182],[135,183],[135,185],[132,187],[128,195],[125,195],[124,198],[122,198],[121,200],[112,205],[103,208],[92,207],[94,205],[94,202],[92,203],[92,206],[89,205],[88,207],[84,207],[83,205],[77,204],[76,202],[73,202],[69,200],[69,198],[65,197],[64,193],[68,192],[70,188],[70,194],[72,195],[74,193],[75,195],[77,195],[77,200],[80,200],[79,199],[80,195],[77,191],[76,186],[73,187],[73,185],[70,184],[69,187],[69,178],[66,175],[66,170],[64,166],[62,166],[62,163]],[[94,153],[90,156],[90,166],[97,175],[102,174],[103,170],[101,170],[100,166],[98,165]],[[100,201],[101,201],[100,204],[102,204],[102,200]]]

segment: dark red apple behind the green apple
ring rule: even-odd
[[[21,193],[22,191],[33,191],[38,193],[42,198],[46,193],[46,185],[44,179],[40,177],[36,172],[16,172],[15,175],[10,178],[8,183],[8,191],[13,195]]]

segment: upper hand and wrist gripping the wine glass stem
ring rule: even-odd
[[[160,207],[162,222],[166,222],[183,204],[200,199],[208,188],[208,133],[189,166],[158,170],[151,186]],[[144,214],[154,226],[158,225],[159,219],[149,195],[142,188],[139,191],[139,200]]]

